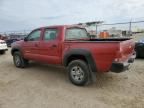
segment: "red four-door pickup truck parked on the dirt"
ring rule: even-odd
[[[96,72],[122,72],[134,62],[134,42],[128,38],[92,39],[85,28],[76,25],[41,27],[24,40],[12,44],[16,67],[38,61],[66,67],[70,81],[85,85]]]

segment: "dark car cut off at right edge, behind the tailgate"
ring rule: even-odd
[[[144,58],[144,39],[139,40],[135,44],[137,58]]]

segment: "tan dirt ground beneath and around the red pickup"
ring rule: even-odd
[[[144,61],[124,73],[97,74],[94,84],[77,87],[61,67],[13,65],[10,49],[0,55],[0,108],[144,108]]]

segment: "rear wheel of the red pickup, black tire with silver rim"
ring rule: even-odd
[[[67,67],[69,80],[78,86],[89,84],[90,70],[83,60],[73,60]]]

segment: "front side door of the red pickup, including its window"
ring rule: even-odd
[[[28,35],[27,41],[23,43],[23,51],[26,58],[38,60],[40,37],[41,29],[34,30]]]

